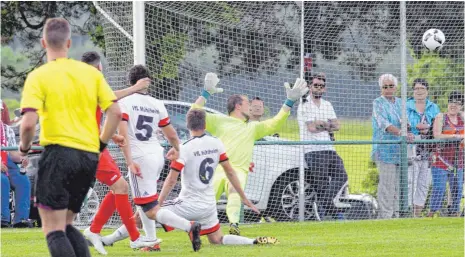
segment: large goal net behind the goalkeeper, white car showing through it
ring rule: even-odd
[[[95,2],[95,6],[105,36],[105,75],[114,89],[121,89],[127,86],[137,42],[133,38],[132,2]],[[257,142],[246,194],[265,216],[278,221],[299,220],[301,199],[304,211],[300,214],[305,220],[375,219],[378,170],[371,159],[373,145],[360,142],[372,140],[373,100],[381,94],[379,76],[389,73],[397,77],[399,97],[402,86],[411,97],[413,80],[426,79],[430,99],[443,111],[448,94],[464,89],[463,2],[409,1],[405,10],[403,42],[399,2],[145,2],[145,13],[139,15],[145,17],[145,59],[153,77],[149,92],[165,100],[179,137],[186,140],[184,116],[199,96],[207,72],[216,72],[224,88],[224,93],[208,101],[212,112],[226,113],[228,97],[241,94],[250,100],[261,99],[263,113],[260,101],[252,102],[258,107],[251,111],[252,115],[262,114],[261,120],[273,117],[281,108],[286,99],[284,82],[293,83],[301,70],[307,79],[310,74],[324,73],[323,99],[332,104],[340,123],[333,138],[336,143],[347,143],[298,144],[327,140],[306,135],[306,124],[312,119],[328,119],[329,107],[316,111],[312,96],[304,97],[282,128]],[[446,35],[440,54],[428,53],[422,47],[422,35],[430,28]],[[300,127],[298,110],[303,112]],[[314,161],[316,155],[310,154],[318,151],[324,157],[320,166]],[[113,154],[125,173],[121,153],[115,148]],[[400,154],[399,150],[392,155],[401,159]],[[159,188],[166,173],[165,167]],[[394,217],[411,214],[414,196],[410,190],[414,182],[407,185],[407,170],[401,173],[392,182],[397,193],[387,196],[389,201],[401,200]],[[107,190],[97,185],[90,199],[101,201]],[[225,203],[225,199],[218,203],[220,213]],[[332,206],[325,208],[325,203]],[[83,224],[88,222],[92,210],[81,217]],[[258,220],[244,210],[243,222]],[[110,225],[118,224],[115,215]]]

